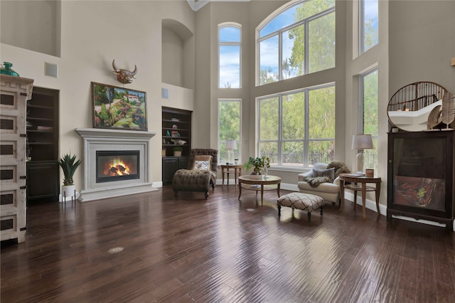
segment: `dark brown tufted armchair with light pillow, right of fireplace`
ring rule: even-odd
[[[218,150],[191,149],[188,169],[179,169],[173,175],[174,196],[178,196],[178,191],[200,191],[208,198],[210,186],[215,190],[217,164]]]

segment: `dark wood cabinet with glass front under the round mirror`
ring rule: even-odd
[[[453,230],[454,142],[453,130],[388,134],[388,221],[405,216]]]

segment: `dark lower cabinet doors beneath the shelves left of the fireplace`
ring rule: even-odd
[[[27,162],[27,202],[58,201],[57,161]]]

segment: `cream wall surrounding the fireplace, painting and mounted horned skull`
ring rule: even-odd
[[[4,2],[2,14],[8,14]],[[33,13],[33,6],[26,9]],[[146,92],[148,128],[157,132],[151,139],[149,180],[161,182],[161,106],[193,110],[192,90],[168,85],[169,99],[161,99],[161,19],[175,19],[194,32],[195,13],[186,1],[62,1],[61,17],[60,58],[1,43],[0,60],[14,63],[14,70],[34,79],[35,86],[60,90],[60,154],[77,156],[81,139],[74,129],[92,127],[90,82],[123,86],[112,73],[112,59],[119,68],[137,65],[137,79],[125,87]],[[15,26],[14,31],[28,30],[26,24]],[[44,75],[44,62],[58,65],[58,78]],[[78,186],[80,173],[75,174]]]

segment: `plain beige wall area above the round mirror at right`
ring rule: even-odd
[[[390,1],[389,95],[417,81],[455,92],[455,1]]]

